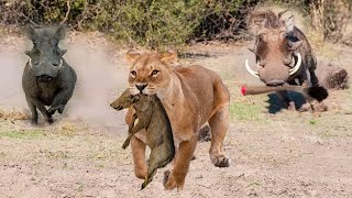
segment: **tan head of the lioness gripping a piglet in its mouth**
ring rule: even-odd
[[[155,95],[167,88],[173,72],[169,63],[176,59],[175,52],[140,54],[129,51],[127,58],[133,63],[129,76],[132,95]]]

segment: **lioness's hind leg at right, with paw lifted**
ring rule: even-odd
[[[220,109],[209,119],[211,128],[211,146],[209,155],[212,164],[218,167],[230,166],[230,160],[226,156],[222,142],[228,133],[229,128],[229,107]]]

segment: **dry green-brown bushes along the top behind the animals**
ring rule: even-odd
[[[151,48],[191,41],[239,40],[246,18],[271,0],[2,0],[0,24],[66,24],[78,31],[101,31],[128,44]],[[326,40],[340,40],[350,0],[272,0],[300,6]]]

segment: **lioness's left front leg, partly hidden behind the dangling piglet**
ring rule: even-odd
[[[134,165],[134,174],[138,178],[144,179],[147,174],[147,166],[145,163],[145,147],[146,144],[140,139],[132,136],[131,148]]]

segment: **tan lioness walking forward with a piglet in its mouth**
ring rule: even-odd
[[[182,189],[185,184],[190,160],[197,144],[198,131],[209,122],[211,127],[210,160],[218,167],[228,167],[222,141],[229,125],[230,94],[221,78],[202,66],[170,66],[176,59],[175,52],[144,53],[128,52],[132,62],[129,85],[132,95],[157,95],[168,114],[174,134],[176,156],[174,168],[168,175],[165,189]],[[133,109],[127,114],[132,122]],[[144,179],[147,174],[145,163],[145,131],[131,140],[134,173]]]

